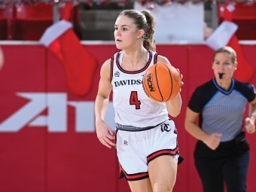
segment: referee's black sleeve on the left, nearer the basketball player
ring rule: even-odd
[[[212,96],[214,96],[217,91],[218,90],[212,80],[197,87],[188,102],[188,108],[196,113],[201,113],[203,107],[210,99],[212,99]]]

